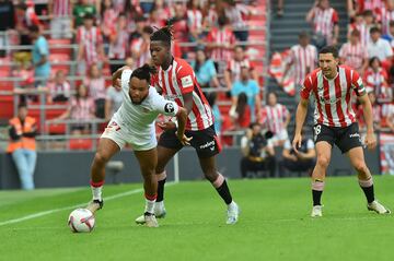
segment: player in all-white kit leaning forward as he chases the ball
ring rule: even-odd
[[[144,64],[131,71],[124,67],[113,75],[113,85],[121,87],[124,102],[111,119],[100,139],[97,152],[91,168],[91,187],[93,200],[88,209],[93,213],[103,206],[102,188],[105,177],[105,165],[126,143],[129,143],[139,162],[143,177],[146,209],[143,218],[147,226],[157,227],[154,202],[158,181],[155,167],[158,162],[154,120],[158,115],[176,116],[178,121],[177,139],[183,145],[189,143],[185,132],[187,112],[176,103],[164,99],[153,86],[150,86],[150,74],[155,69]],[[119,80],[119,78],[121,78]]]

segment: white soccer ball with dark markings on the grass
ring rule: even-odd
[[[94,215],[90,210],[77,209],[71,212],[68,225],[73,233],[92,232],[94,228]]]

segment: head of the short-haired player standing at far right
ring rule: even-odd
[[[336,76],[338,63],[338,49],[335,46],[326,46],[318,51],[318,67],[324,76],[328,79]]]

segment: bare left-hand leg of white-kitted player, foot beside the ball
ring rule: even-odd
[[[100,139],[99,149],[91,166],[91,188],[93,200],[88,207],[92,213],[103,207],[102,189],[105,180],[105,165],[118,151],[119,145],[107,138]]]

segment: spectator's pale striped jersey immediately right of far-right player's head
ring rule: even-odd
[[[345,64],[355,69],[360,69],[366,59],[368,59],[367,47],[361,43],[351,45],[346,43],[339,50],[339,57],[345,59]]]

